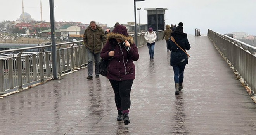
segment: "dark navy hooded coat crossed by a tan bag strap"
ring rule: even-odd
[[[175,42],[184,50],[190,49],[189,40],[187,34],[181,31],[174,31],[171,36],[175,39]],[[188,64],[188,56],[183,52],[171,39],[169,39],[168,49],[171,51],[171,66],[180,66]]]

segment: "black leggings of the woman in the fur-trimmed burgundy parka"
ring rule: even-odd
[[[115,103],[118,110],[129,110],[131,106],[131,86],[133,80],[109,80],[115,93]]]

